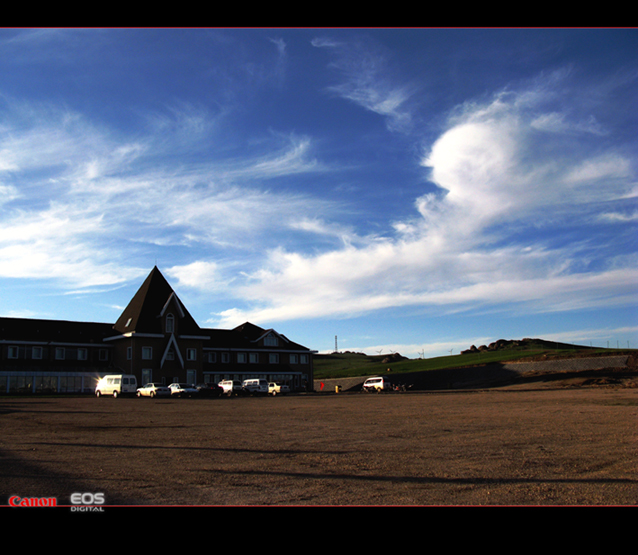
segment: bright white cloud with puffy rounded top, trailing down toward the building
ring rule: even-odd
[[[272,250],[237,286],[252,307],[222,312],[222,325],[401,306],[518,303],[552,312],[629,302],[638,280],[631,257],[593,263],[587,242],[521,239],[526,228],[560,234],[582,217],[607,213],[605,203],[628,198],[635,187],[622,149],[601,154],[591,148],[591,133],[574,135],[573,127],[563,144],[563,129],[534,125],[546,100],[538,91],[510,91],[456,111],[423,156],[437,188],[416,199],[418,215],[393,222],[394,235],[357,246],[316,255]]]

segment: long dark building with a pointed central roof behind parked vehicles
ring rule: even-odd
[[[115,324],[0,318],[0,347],[0,393],[92,392],[100,377],[117,373],[140,384],[313,384],[313,351],[249,322],[201,328],[157,267]]]

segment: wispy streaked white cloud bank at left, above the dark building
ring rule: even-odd
[[[139,275],[117,261],[143,245],[249,251],[263,233],[275,236],[329,210],[301,193],[263,187],[273,177],[325,171],[308,138],[273,136],[230,160],[170,156],[183,141],[192,144],[193,129],[208,148],[214,144],[206,113],[182,108],[161,122],[153,116],[154,128],[188,132],[131,140],[77,112],[5,102],[0,276],[43,277],[47,268],[47,277],[74,287],[114,283]]]

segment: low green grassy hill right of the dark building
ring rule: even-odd
[[[347,378],[384,374],[388,368],[392,369],[393,374],[401,374],[445,368],[462,368],[491,362],[534,360],[540,357],[596,356],[625,351],[556,343],[543,339],[499,340],[485,350],[427,359],[408,359],[400,355],[395,355],[394,359],[389,359],[389,355],[366,355],[351,352],[315,355],[314,369],[315,379]]]

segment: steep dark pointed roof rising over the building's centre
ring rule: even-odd
[[[113,329],[120,333],[163,333],[160,316],[171,300],[177,304],[180,334],[199,333],[197,322],[181,303],[173,288],[155,266],[137,290]]]

